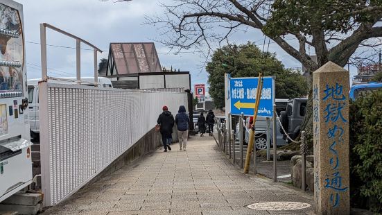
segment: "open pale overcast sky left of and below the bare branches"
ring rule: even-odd
[[[46,22],[64,31],[77,35],[98,46],[104,52],[98,55],[107,58],[110,42],[153,42],[158,38],[153,26],[144,24],[145,15],[162,13],[158,1],[133,0],[113,3],[99,0],[17,0],[24,6],[24,28],[26,37],[26,62],[28,78],[41,77],[40,60],[40,23]],[[171,3],[171,0],[162,0]],[[47,44],[75,47],[76,41],[47,31]],[[263,35],[257,31],[239,32],[232,37],[232,42],[242,44],[247,41],[262,46]],[[268,41],[268,40],[267,40]],[[191,84],[207,84],[207,73],[201,69],[205,59],[200,54],[167,53],[168,49],[155,43],[159,60],[164,67],[175,67],[181,71],[190,71]],[[83,45],[83,49],[88,48]],[[277,58],[289,67],[301,67],[297,60],[281,50],[277,44],[270,44],[270,51],[277,53]],[[49,76],[76,76],[76,50],[48,46]],[[81,71],[83,76],[93,76],[93,52],[81,53]]]

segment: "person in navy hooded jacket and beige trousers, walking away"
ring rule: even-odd
[[[186,114],[186,107],[180,105],[175,116],[177,125],[177,138],[179,139],[180,150],[186,150],[187,138],[189,137],[189,122],[190,118]]]

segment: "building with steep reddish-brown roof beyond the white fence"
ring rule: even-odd
[[[189,71],[162,71],[153,42],[110,43],[106,71],[99,76],[123,89],[190,89]]]

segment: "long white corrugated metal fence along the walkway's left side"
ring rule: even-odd
[[[175,112],[186,93],[39,83],[44,205],[60,203],[147,132],[162,106]]]

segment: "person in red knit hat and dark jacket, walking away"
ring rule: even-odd
[[[157,123],[160,126],[160,133],[162,135],[162,141],[164,146],[164,151],[171,150],[171,147],[168,145],[169,141],[172,139],[173,127],[174,127],[174,117],[171,112],[168,111],[167,106],[162,107],[162,114],[159,115]]]

